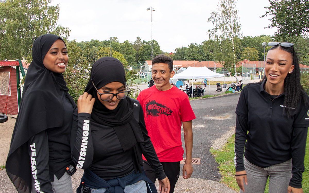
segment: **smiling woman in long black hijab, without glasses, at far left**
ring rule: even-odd
[[[38,37],[25,78],[6,172],[20,192],[73,192],[66,167],[74,100],[62,73],[68,63],[66,44],[56,35]]]

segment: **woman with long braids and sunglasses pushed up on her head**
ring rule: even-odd
[[[240,192],[262,193],[268,178],[269,193],[303,192],[309,103],[293,45],[269,42],[266,77],[241,92],[234,158]]]

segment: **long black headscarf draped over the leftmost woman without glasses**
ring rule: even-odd
[[[56,40],[62,39],[53,34],[45,34],[33,43],[32,62],[25,78],[21,107],[6,160],[6,172],[11,180],[15,176],[22,178],[28,185],[29,191],[31,191],[31,165],[28,140],[45,129],[62,126],[64,110],[60,90],[66,92],[67,98],[74,108],[76,107],[74,100],[67,93],[69,89],[66,87],[63,75],[46,69],[43,64],[46,53]]]

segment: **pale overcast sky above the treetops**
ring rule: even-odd
[[[53,0],[59,4],[58,25],[69,27],[69,40],[109,40],[117,36],[119,42],[134,42],[137,36],[151,40],[151,11],[153,7],[153,37],[164,52],[190,43],[208,40],[206,33],[214,28],[207,20],[211,11],[217,11],[218,0]],[[265,14],[268,0],[238,0],[243,36],[273,35],[277,29],[264,29],[270,24]]]

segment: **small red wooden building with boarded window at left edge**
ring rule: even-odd
[[[0,61],[0,113],[16,115],[21,99],[19,66],[21,61]]]

